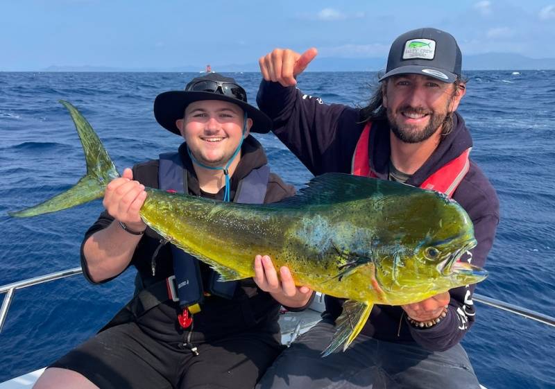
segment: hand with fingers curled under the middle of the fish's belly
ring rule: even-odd
[[[255,257],[255,277],[253,279],[259,288],[270,293],[280,304],[292,308],[305,306],[312,295],[312,290],[307,286],[295,286],[287,266],[280,268],[280,277],[278,278],[278,272],[267,255]]]

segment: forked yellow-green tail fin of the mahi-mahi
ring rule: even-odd
[[[10,216],[24,218],[49,214],[62,209],[75,207],[76,205],[85,204],[85,202],[96,200],[104,196],[104,191],[108,182],[119,177],[119,173],[112,159],[110,159],[108,152],[106,152],[99,137],[96,135],[89,122],[87,122],[87,119],[80,114],[76,107],[67,101],[60,100],[60,103],[67,108],[69,114],[71,114],[71,119],[73,119],[75,123],[75,128],[79,134],[81,144],[83,145],[83,151],[85,152],[87,174],[68,191],[60,193],[33,207],[20,211],[8,212]]]

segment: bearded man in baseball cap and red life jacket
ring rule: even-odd
[[[325,105],[296,89],[316,56],[275,49],[259,61],[257,103],[273,132],[315,175],[353,173],[442,191],[470,215],[478,241],[464,261],[484,266],[499,221],[495,190],[468,158],[472,139],[456,112],[466,85],[454,37],[434,28],[400,35],[364,109]],[[266,261],[268,258],[266,258]],[[342,301],[278,358],[259,388],[478,388],[459,341],[475,322],[474,286],[406,306],[375,305],[346,352],[321,358]]]

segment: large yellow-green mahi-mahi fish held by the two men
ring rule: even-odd
[[[76,107],[69,110],[87,174],[68,191],[10,213],[46,214],[103,196],[119,177],[99,137]],[[361,331],[373,304],[420,302],[475,284],[486,271],[461,256],[477,244],[466,211],[442,193],[397,182],[327,173],[282,202],[222,202],[146,188],[144,223],[216,270],[224,281],[253,277],[254,258],[268,254],[297,285],[348,299],[324,355]]]

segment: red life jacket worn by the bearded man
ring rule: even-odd
[[[370,168],[370,131],[372,130],[372,122],[368,121],[364,130],[362,130],[355,153],[352,155],[351,174],[363,175],[364,177],[377,178],[375,171]],[[466,150],[450,162],[447,162],[432,175],[430,175],[422,184],[420,188],[429,189],[445,193],[447,196],[452,197],[455,189],[459,186],[466,173],[470,169],[470,150]]]

